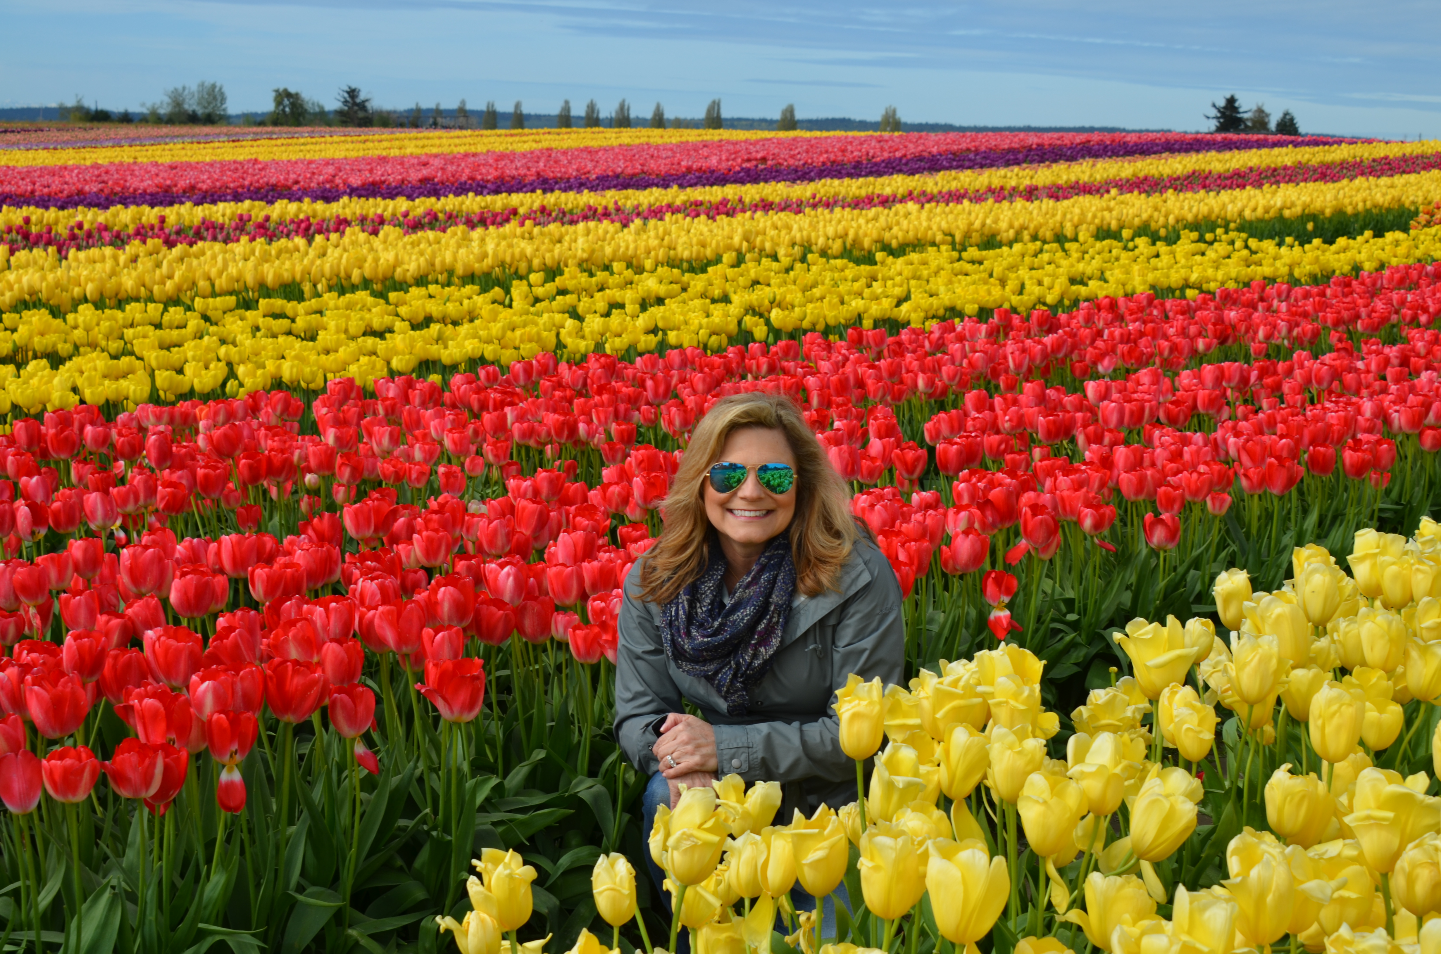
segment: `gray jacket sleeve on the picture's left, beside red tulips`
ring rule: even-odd
[[[640,566],[635,561],[625,579],[625,597],[618,618],[615,653],[615,738],[638,771],[653,775],[660,761],[651,754],[656,734],[650,723],[669,712],[684,712],[680,689],[670,677],[666,647],[650,611],[637,599]]]

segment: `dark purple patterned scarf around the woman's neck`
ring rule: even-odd
[[[660,612],[660,638],[676,669],[715,686],[732,716],[744,716],[751,686],[771,667],[795,592],[790,535],[765,545],[731,602],[722,597],[726,562],[712,542],[710,563]]]

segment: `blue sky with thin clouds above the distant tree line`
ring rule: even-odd
[[[1236,94],[1303,133],[1441,138],[1434,1],[0,0],[0,107],[135,110],[205,79],[233,112],[356,85],[386,108],[699,117],[719,97],[735,117],[1202,130]]]

